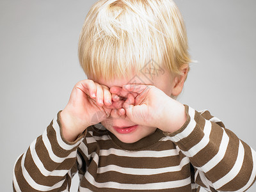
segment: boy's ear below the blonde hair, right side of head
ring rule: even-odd
[[[177,97],[182,92],[184,82],[186,81],[186,78],[188,76],[188,71],[189,71],[189,66],[188,64],[186,64],[180,69],[180,74],[177,74],[173,78],[173,90],[172,90],[173,96]]]

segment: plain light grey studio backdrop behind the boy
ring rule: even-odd
[[[0,1],[0,191],[12,191],[17,157],[86,79],[77,42],[96,1]],[[180,102],[209,109],[256,149],[256,1],[177,0],[191,65]],[[72,191],[77,191],[75,176]],[[248,191],[256,191],[256,184]]]

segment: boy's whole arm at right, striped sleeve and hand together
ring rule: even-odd
[[[197,184],[208,191],[244,191],[255,182],[255,151],[209,111],[198,113],[184,107],[156,86],[126,84],[122,88],[111,88],[111,93],[127,95],[125,115],[169,136],[189,157]]]

